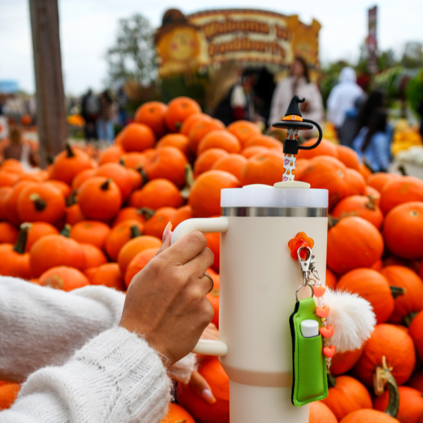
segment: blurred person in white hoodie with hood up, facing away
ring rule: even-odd
[[[327,103],[327,119],[335,125],[338,138],[345,121],[345,114],[354,106],[355,100],[362,96],[363,90],[357,85],[357,76],[350,66],[345,66],[339,74],[339,82],[332,88]]]

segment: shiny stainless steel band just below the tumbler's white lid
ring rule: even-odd
[[[327,217],[326,207],[221,207],[221,216]]]

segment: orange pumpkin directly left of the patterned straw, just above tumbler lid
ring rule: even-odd
[[[241,170],[241,185],[262,183],[274,185],[281,182],[283,176],[283,154],[269,151],[248,159]]]

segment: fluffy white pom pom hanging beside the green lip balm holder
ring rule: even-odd
[[[317,298],[314,297],[314,301],[317,302]],[[328,324],[333,326],[334,331],[330,342],[336,352],[360,348],[370,338],[376,324],[372,305],[357,294],[329,288],[326,288],[323,301],[331,309]]]

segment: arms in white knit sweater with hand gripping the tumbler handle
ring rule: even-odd
[[[194,232],[169,245],[170,233],[125,297],[1,279],[1,378],[22,381],[41,367],[1,423],[160,422],[171,400],[168,369],[213,317],[206,238]]]

